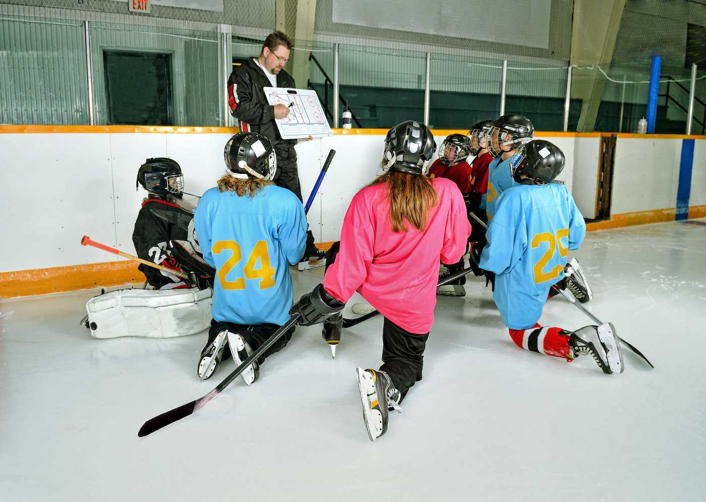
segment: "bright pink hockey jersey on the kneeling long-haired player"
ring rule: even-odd
[[[383,316],[410,333],[428,333],[434,321],[439,258],[457,263],[471,232],[463,197],[453,181],[431,180],[438,203],[424,232],[390,227],[387,186],[359,191],[341,229],[340,251],[323,285],[340,301],[357,291]]]

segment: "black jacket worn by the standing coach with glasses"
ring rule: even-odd
[[[275,107],[268,104],[263,87],[272,87],[270,79],[253,59],[236,66],[228,78],[230,112],[240,121],[241,131],[261,133],[270,138],[275,150],[289,150],[297,140],[283,140],[280,136],[275,124]],[[286,71],[280,71],[277,87],[294,88],[294,78]]]

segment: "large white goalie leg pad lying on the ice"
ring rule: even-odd
[[[208,289],[118,289],[86,304],[94,338],[169,338],[199,333],[210,326]]]

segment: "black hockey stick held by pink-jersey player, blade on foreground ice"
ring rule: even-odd
[[[147,422],[145,422],[141,427],[140,431],[138,431],[137,435],[138,437],[143,437],[147,436],[148,434],[152,434],[154,431],[158,431],[162,429],[162,427],[167,426],[169,424],[173,424],[174,422],[177,422],[177,420],[181,420],[184,417],[189,417],[190,414],[193,414],[193,412],[197,412],[198,410],[201,410],[205,405],[208,404],[210,400],[215,398],[221,390],[225,389],[229,383],[234,381],[235,378],[240,376],[240,373],[245,371],[245,369],[250,366],[253,361],[258,359],[265,350],[269,349],[273,343],[275,343],[277,340],[282,337],[289,328],[292,328],[294,324],[299,321],[299,314],[292,316],[289,318],[289,321],[287,321],[284,325],[282,325],[282,328],[278,329],[273,333],[272,336],[270,336],[263,345],[258,347],[258,349],[253,352],[248,359],[245,359],[243,363],[238,366],[232,373],[230,373],[224,381],[218,384],[218,386],[211,390],[210,393],[204,395],[201,398],[198,398],[197,400],[191,401],[189,403],[186,403],[186,405],[181,405],[177,408],[174,408],[174,410],[169,410],[168,412],[164,412],[161,415],[157,415],[157,417],[149,419]]]

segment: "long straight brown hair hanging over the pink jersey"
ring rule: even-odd
[[[405,221],[419,232],[424,232],[429,210],[438,203],[431,179],[418,174],[388,171],[371,181],[368,186],[381,183],[386,184],[388,188],[390,227],[393,232],[407,232]]]

